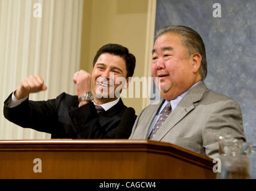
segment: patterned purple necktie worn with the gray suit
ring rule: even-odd
[[[163,125],[164,121],[169,116],[171,110],[172,110],[172,107],[170,106],[170,101],[168,101],[166,106],[164,107],[164,109],[161,111],[159,119],[157,120],[156,125],[154,126],[153,130],[151,131],[148,139],[152,139],[156,135],[157,130],[159,130],[161,125]]]

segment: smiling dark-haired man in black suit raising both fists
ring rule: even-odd
[[[4,116],[51,138],[128,138],[136,115],[124,106],[118,91],[129,85],[135,62],[127,48],[104,45],[93,60],[92,75],[84,70],[74,74],[77,96],[62,93],[52,100],[31,101],[29,94],[47,90],[43,79],[33,75],[5,100]],[[125,83],[115,83],[118,78]]]

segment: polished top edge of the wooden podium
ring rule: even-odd
[[[50,140],[0,140],[1,150],[13,149],[120,149],[123,147],[132,149],[161,150],[162,152],[179,153],[192,156],[203,161],[211,161],[208,156],[201,155],[172,143],[154,140],[129,140],[129,139],[50,139]]]

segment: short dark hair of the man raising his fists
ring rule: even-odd
[[[136,58],[133,56],[133,54],[129,53],[128,48],[123,47],[120,44],[106,44],[101,47],[96,55],[95,58],[93,59],[93,67],[95,66],[95,63],[99,56],[103,53],[109,53],[109,54],[114,54],[116,56],[120,56],[124,58],[126,61],[126,70],[127,70],[127,76],[126,78],[132,77],[135,69],[135,63],[136,63]]]

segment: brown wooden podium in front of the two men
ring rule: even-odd
[[[0,178],[215,178],[213,165],[206,156],[150,140],[0,141]]]

